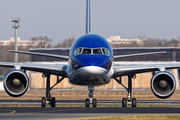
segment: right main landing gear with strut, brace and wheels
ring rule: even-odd
[[[132,98],[132,78],[134,76],[135,75],[128,75],[128,88],[126,88],[121,83],[121,78],[119,80],[117,78],[114,78],[119,84],[121,84],[128,91],[127,98],[122,99],[122,107],[127,107],[128,105],[131,105],[131,107],[136,107],[136,98]]]

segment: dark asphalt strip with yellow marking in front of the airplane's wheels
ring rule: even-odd
[[[44,120],[100,116],[145,115],[145,114],[174,114],[180,115],[180,108],[122,108],[122,107],[2,107],[1,120]]]

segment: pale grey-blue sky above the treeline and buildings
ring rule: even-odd
[[[0,0],[0,40],[48,36],[53,44],[85,34],[86,0]],[[180,0],[91,0],[91,31],[105,38],[172,39],[180,36]]]

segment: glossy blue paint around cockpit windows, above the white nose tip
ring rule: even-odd
[[[80,54],[80,55],[74,55],[74,51],[76,48],[107,48],[110,52],[110,55],[85,55],[85,54]],[[106,70],[109,71],[112,65],[112,57],[113,57],[113,50],[109,42],[103,38],[100,35],[97,34],[86,34],[83,35],[82,37],[78,38],[74,44],[71,47],[70,50],[70,56],[71,58],[71,65],[74,70],[77,70],[81,67],[86,67],[86,66],[98,66],[105,68]]]

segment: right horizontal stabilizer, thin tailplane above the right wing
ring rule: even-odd
[[[166,51],[149,52],[149,53],[138,53],[138,54],[129,54],[129,55],[117,55],[117,56],[114,56],[114,59],[117,59],[117,58],[128,58],[128,57],[137,57],[137,56],[144,56],[144,55],[155,55],[155,54],[163,54],[163,53],[166,53]]]

